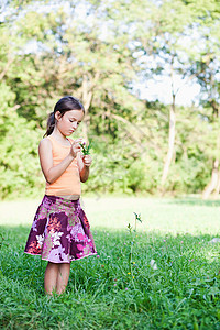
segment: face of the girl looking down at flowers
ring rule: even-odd
[[[61,117],[61,112],[57,111],[55,113],[56,118],[56,127],[61,131],[61,133],[65,136],[69,136],[72,133],[76,131],[79,123],[84,119],[82,110],[69,110]]]

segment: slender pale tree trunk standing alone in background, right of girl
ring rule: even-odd
[[[173,94],[173,102],[169,110],[169,132],[168,132],[168,151],[166,154],[166,161],[164,164],[164,170],[162,175],[162,187],[166,183],[169,167],[174,157],[174,145],[175,145],[175,129],[176,129],[176,113],[175,113],[175,95]]]

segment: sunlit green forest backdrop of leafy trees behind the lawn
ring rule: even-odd
[[[65,95],[86,108],[85,193],[219,196],[218,0],[1,1],[0,36],[1,199],[43,194],[37,145]],[[144,99],[164,76],[170,105]],[[175,76],[199,84],[191,106]]]

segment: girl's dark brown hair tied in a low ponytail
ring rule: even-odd
[[[57,111],[61,112],[61,116],[63,117],[65,112],[70,111],[70,110],[82,110],[85,113],[84,106],[81,102],[72,96],[65,96],[54,107],[54,111],[50,113],[48,119],[47,119],[47,129],[46,133],[44,136],[48,136],[53,133],[56,119],[55,119],[55,113]]]

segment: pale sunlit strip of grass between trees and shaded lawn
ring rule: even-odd
[[[31,226],[41,200],[0,202],[0,224]],[[133,212],[142,215],[141,230],[216,234],[220,231],[220,201],[198,198],[82,198],[92,228],[124,229]]]

